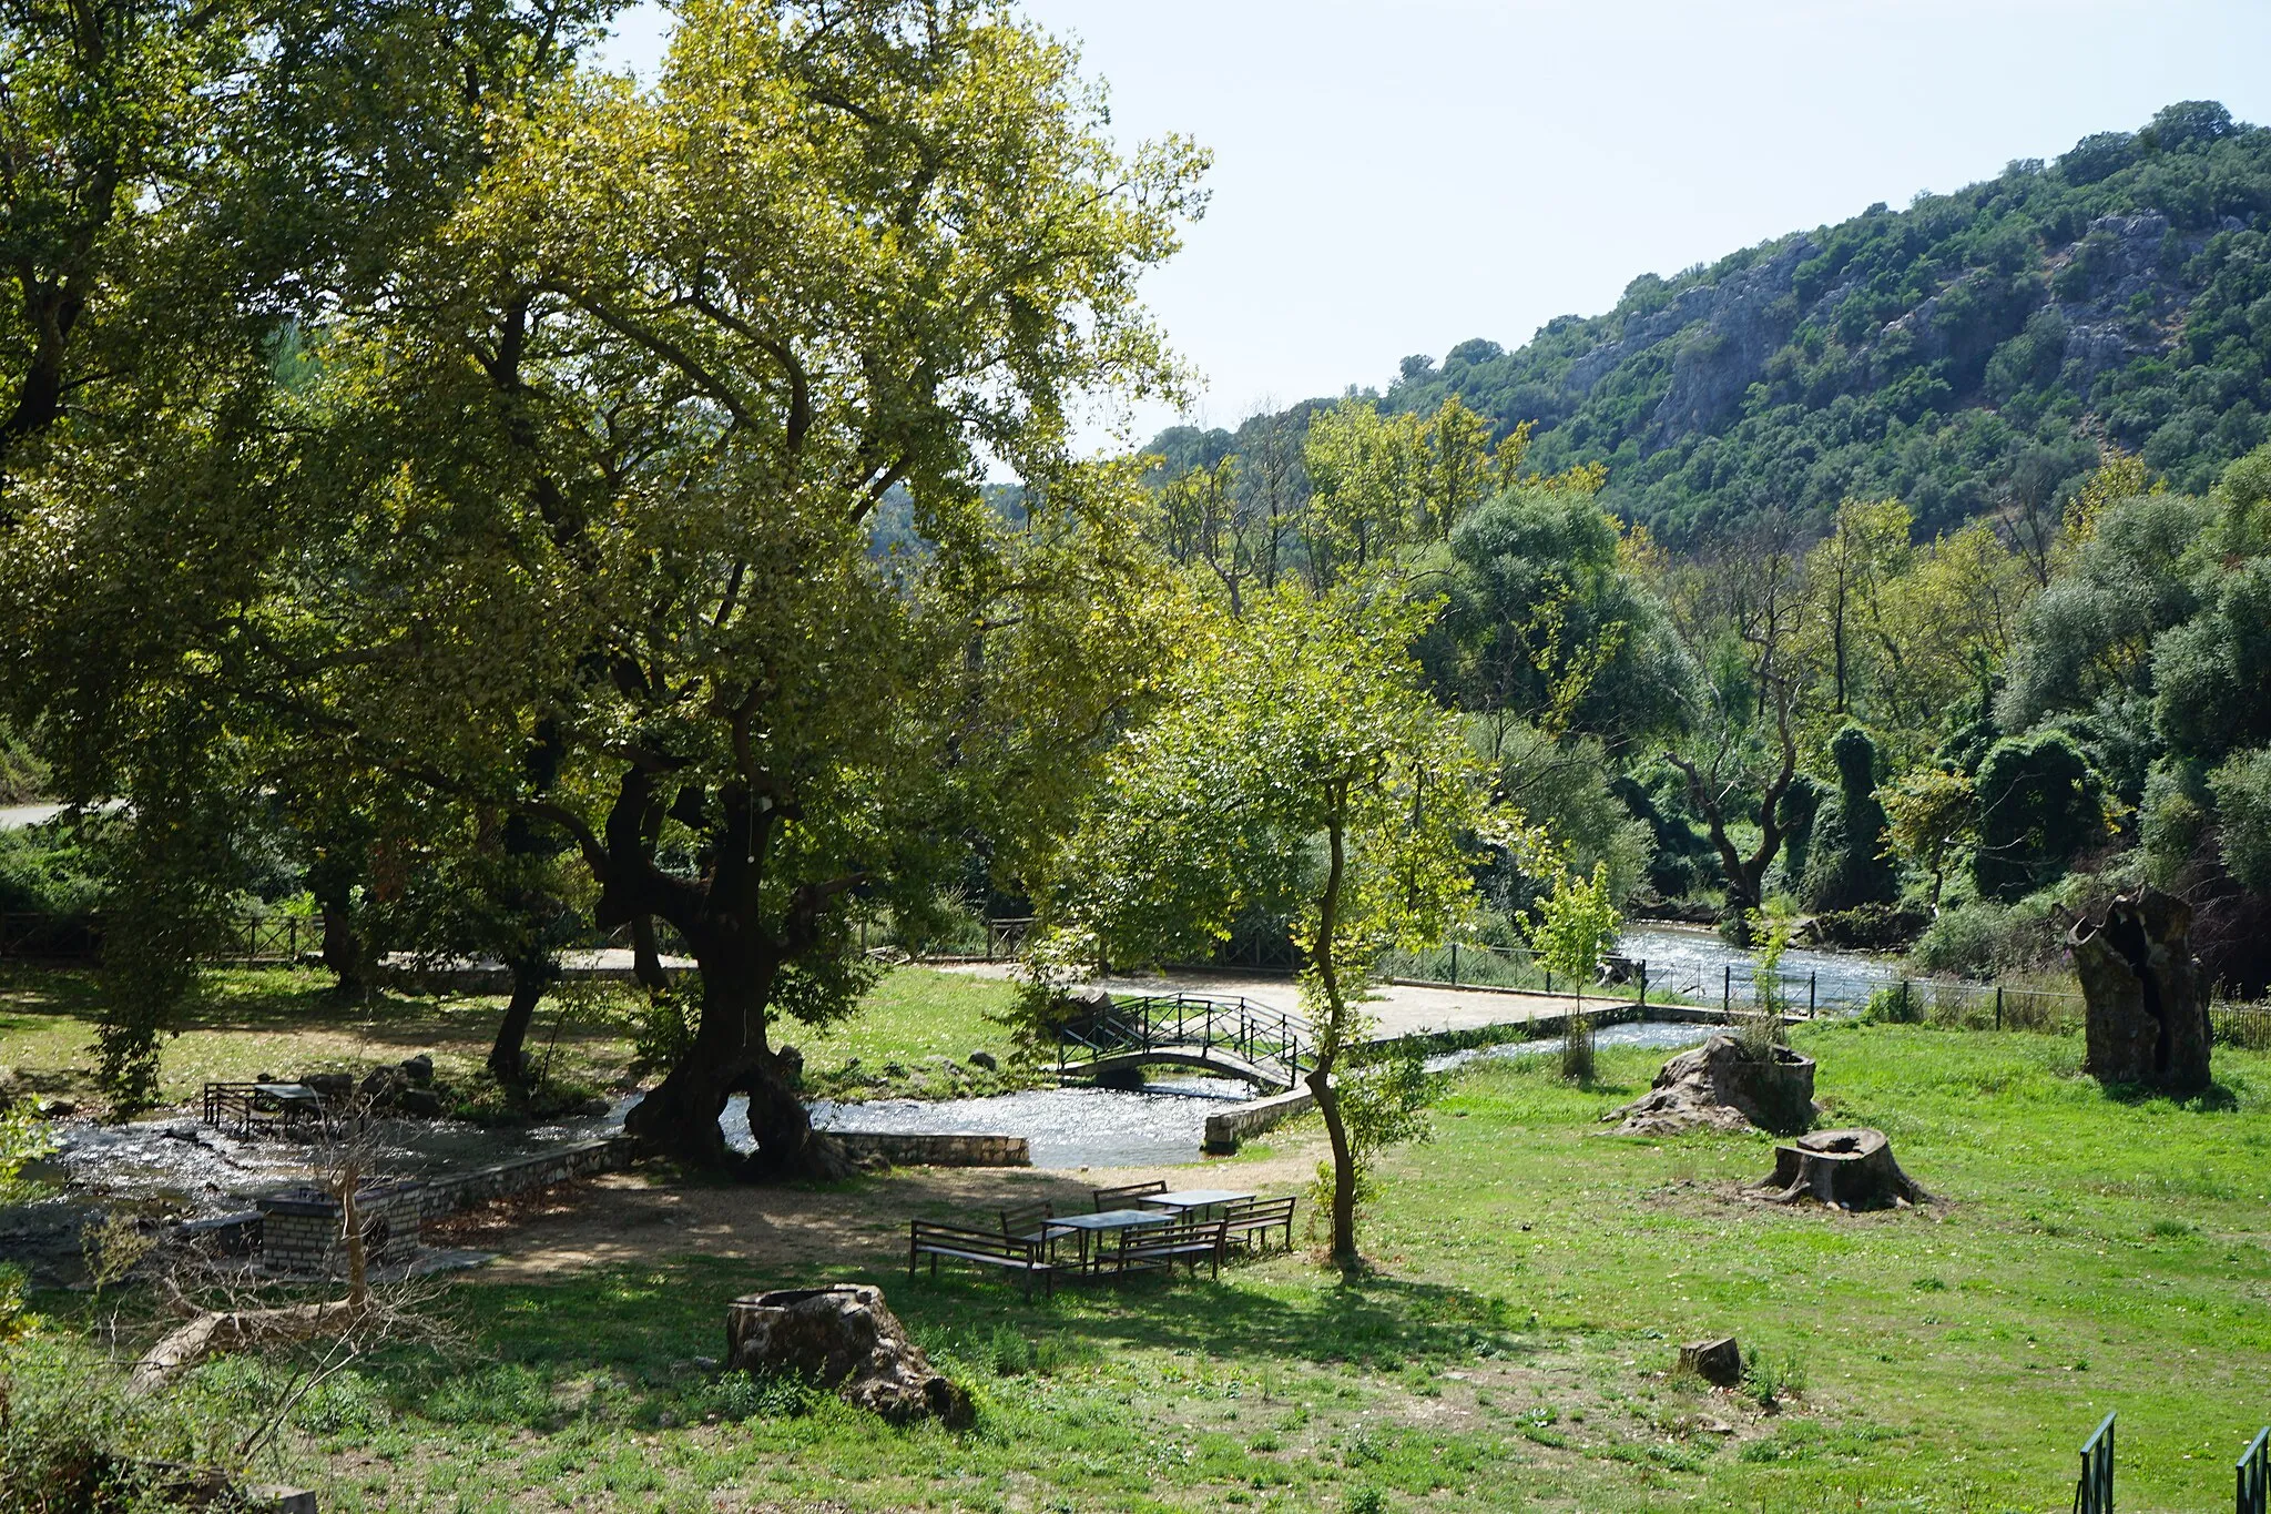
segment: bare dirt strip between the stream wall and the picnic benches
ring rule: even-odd
[[[704,1255],[765,1271],[824,1273],[904,1262],[908,1219],[986,1214],[1054,1201],[1092,1208],[1090,1189],[1165,1178],[1170,1185],[1299,1192],[1322,1137],[1283,1139],[1260,1160],[1190,1167],[1092,1167],[1081,1174],[1017,1167],[913,1167],[847,1189],[679,1185],[609,1174],[427,1223],[429,1246],[500,1253],[472,1282],[538,1282],[590,1267],[640,1267]]]

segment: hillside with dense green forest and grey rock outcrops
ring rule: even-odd
[[[2101,440],[2205,490],[2266,436],[2266,356],[2271,129],[2180,102],[1905,211],[1640,275],[1612,311],[1512,352],[1403,359],[1378,399],[1433,413],[1456,395],[1497,434],[1531,422],[1533,465],[1606,463],[1601,502],[1676,547],[1887,495],[1928,538],[2055,504]],[[1251,456],[1256,429],[1297,438],[1313,409],[1154,447],[1176,470]]]

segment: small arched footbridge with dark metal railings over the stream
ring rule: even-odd
[[[1056,1031],[1063,1078],[1111,1078],[1140,1067],[1197,1067],[1269,1092],[1292,1090],[1310,1065],[1310,1026],[1245,996],[1113,994]]]

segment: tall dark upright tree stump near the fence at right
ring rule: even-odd
[[[2189,903],[2157,888],[2114,894],[2105,919],[2073,922],[2067,951],[2083,981],[2083,1071],[2171,1094],[2207,1087],[2207,996]]]

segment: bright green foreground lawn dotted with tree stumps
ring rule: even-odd
[[[1385,1162],[1358,1282],[1297,1255],[1026,1303],[908,1285],[874,1230],[770,1267],[688,1239],[456,1285],[470,1351],[318,1391],[293,1471],[327,1509],[2064,1509],[2119,1410],[2121,1507],[2221,1507],[2271,1419],[2271,1055],[2219,1051],[2221,1092],[2180,1105],[2103,1094],[2078,1037],[1799,1040],[1828,1119],[1885,1128],[1939,1203],[1751,1205],[1765,1137],[1601,1135],[1651,1053],[1606,1049],[1583,1090],[1483,1062]],[[972,1432],[695,1362],[734,1294],[845,1276],[979,1389]],[[1771,1410],[1669,1373],[1719,1332]],[[248,1380],[202,1378],[216,1403]]]

